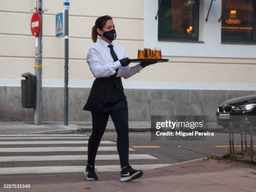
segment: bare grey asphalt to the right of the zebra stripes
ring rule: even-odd
[[[228,147],[216,147],[229,145],[228,134],[217,134],[219,134],[220,141],[151,141],[150,132],[132,132],[129,133],[129,142],[131,148],[133,146],[160,146],[159,148],[136,148],[136,150],[158,158],[159,163],[174,164],[212,154],[228,153]],[[105,132],[103,140],[116,142],[116,137],[115,132]],[[241,143],[238,142],[239,144]]]

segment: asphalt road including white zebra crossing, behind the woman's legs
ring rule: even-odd
[[[228,134],[217,133],[219,141],[151,141],[151,133],[129,133],[129,163],[135,169],[154,169],[212,154],[228,153]],[[87,164],[84,135],[7,135],[0,138],[0,176],[82,173]],[[119,172],[115,132],[105,132],[97,152],[99,172]],[[240,144],[239,135],[236,136]],[[254,145],[255,145],[254,139]],[[224,147],[216,147],[224,146]]]

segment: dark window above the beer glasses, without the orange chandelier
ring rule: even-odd
[[[198,41],[199,0],[162,0],[158,40]]]

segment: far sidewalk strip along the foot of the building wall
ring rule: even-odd
[[[223,128],[210,123],[211,131],[222,131]],[[129,121],[130,132],[146,132],[151,130],[151,121]],[[42,125],[34,125],[33,121],[0,121],[0,134],[79,134],[92,131],[92,121],[69,121],[65,126],[63,121],[43,121]],[[113,121],[108,121],[106,131],[115,131]]]

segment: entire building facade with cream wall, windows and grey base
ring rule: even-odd
[[[113,17],[115,43],[129,58],[137,57],[138,48],[161,47],[162,57],[169,59],[122,79],[130,120],[214,115],[221,102],[254,95],[255,1],[225,1],[71,1],[69,120],[91,120],[90,112],[82,111],[95,79],[86,55],[93,43],[91,28],[101,15]],[[21,107],[20,75],[35,70],[34,7],[36,0],[0,4],[0,121],[33,120],[33,109]],[[64,39],[55,37],[55,14],[64,9],[63,1],[43,0],[43,8],[43,120],[63,120]]]

